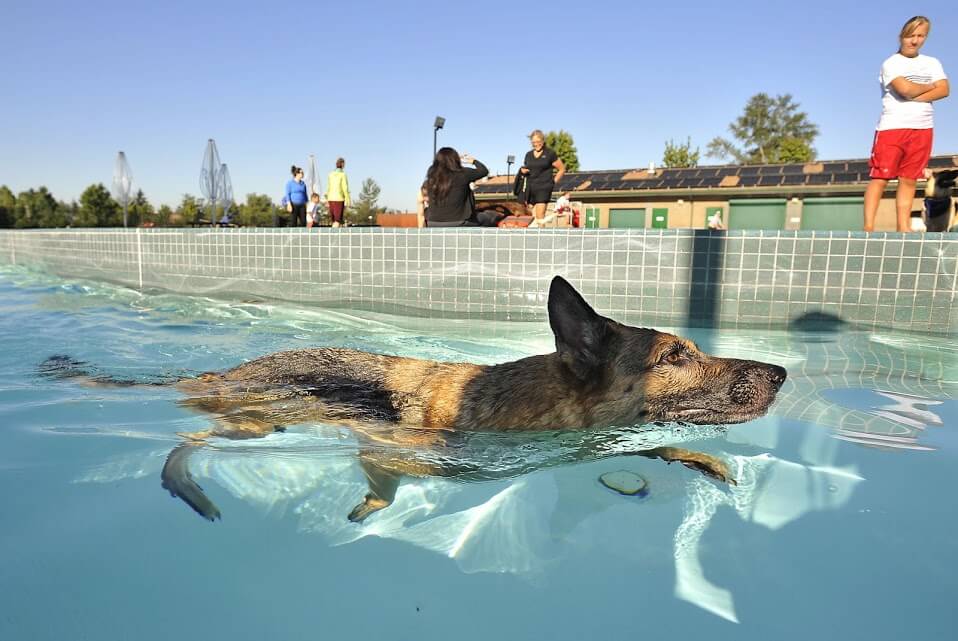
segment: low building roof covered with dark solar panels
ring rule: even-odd
[[[958,156],[935,156],[932,170],[958,168]],[[860,192],[870,180],[868,159],[823,160],[810,163],[776,165],[711,165],[666,169],[615,169],[577,171],[563,176],[555,191],[571,191],[581,196],[641,196],[660,192],[729,195],[743,193],[781,194],[825,191]],[[480,197],[512,193],[512,177],[494,176],[476,185]]]

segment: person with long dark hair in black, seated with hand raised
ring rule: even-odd
[[[464,167],[463,163],[473,165]],[[475,227],[491,224],[476,216],[474,198],[469,183],[489,174],[481,162],[452,147],[436,152],[426,172],[425,196],[429,207],[425,210],[427,227]]]

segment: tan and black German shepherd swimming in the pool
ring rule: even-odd
[[[785,381],[785,369],[777,365],[709,356],[689,340],[604,318],[559,276],[549,289],[548,311],[556,351],[500,365],[319,347],[166,383],[187,395],[181,404],[212,415],[214,424],[181,435],[184,442],[163,467],[163,487],[212,521],[220,511],[193,480],[190,452],[211,437],[256,438],[287,425],[331,422],[349,427],[361,443],[369,492],[348,516],[358,522],[393,502],[404,475],[461,472],[363,443],[435,448],[455,442],[456,434],[481,431],[741,423],[765,414]],[[141,384],[97,375],[66,356],[51,357],[41,371],[91,385]],[[708,454],[676,447],[633,453],[735,482],[725,464]],[[576,460],[589,454],[581,452]]]

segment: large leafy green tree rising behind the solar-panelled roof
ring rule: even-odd
[[[755,94],[745,105],[745,112],[729,125],[742,147],[716,137],[709,143],[707,155],[731,157],[741,165],[814,160],[812,142],[818,136],[818,126],[798,107],[791,94],[774,98]]]

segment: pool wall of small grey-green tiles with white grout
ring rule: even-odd
[[[676,230],[0,230],[0,262],[137,289],[544,318],[549,283],[646,324],[832,317],[958,334],[958,234]]]

